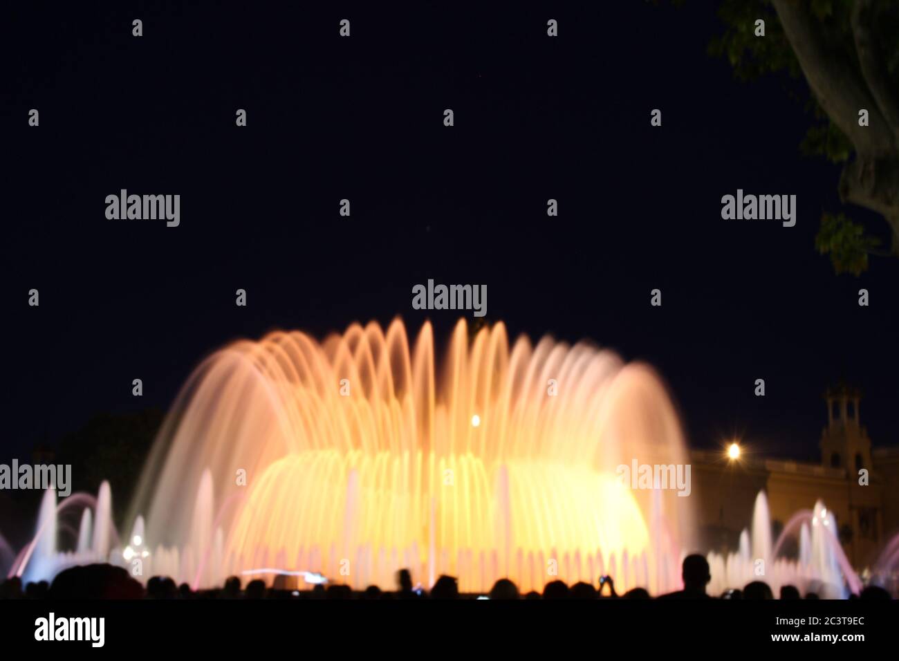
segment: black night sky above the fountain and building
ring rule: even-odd
[[[253,5],[4,8],[0,460],[97,412],[169,406],[236,337],[417,329],[428,278],[486,284],[512,335],[653,363],[694,446],[740,433],[814,460],[840,377],[875,444],[899,442],[899,261],[856,279],[815,253],[839,168],[800,155],[810,116],[787,81],[738,83],[707,55],[711,4]],[[181,194],[181,226],[106,219],[121,188]],[[722,220],[737,188],[797,194],[797,226]],[[441,346],[457,314],[428,313]]]

